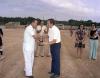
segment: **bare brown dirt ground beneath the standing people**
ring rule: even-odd
[[[0,78],[25,78],[22,52],[23,29],[4,29],[5,59],[0,61]],[[87,41],[88,42],[88,41]],[[74,36],[62,31],[61,77],[60,78],[100,78],[100,45],[96,61],[88,59],[89,44],[86,44],[83,58],[76,57]],[[50,57],[36,57],[33,74],[35,78],[49,78]]]

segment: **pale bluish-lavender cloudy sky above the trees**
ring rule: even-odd
[[[100,0],[0,0],[0,16],[100,22]]]

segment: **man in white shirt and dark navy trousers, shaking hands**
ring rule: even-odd
[[[44,42],[44,45],[50,45],[50,52],[52,57],[50,78],[60,77],[60,49],[61,49],[61,34],[60,30],[55,26],[54,19],[48,19],[47,25],[49,27],[48,36],[49,42]]]

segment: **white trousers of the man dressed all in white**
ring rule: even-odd
[[[31,50],[27,50],[23,47],[23,54],[25,60],[25,75],[32,76],[33,62],[34,62],[34,46]]]

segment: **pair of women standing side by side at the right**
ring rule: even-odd
[[[73,30],[70,30],[70,32],[71,31]],[[96,28],[95,24],[92,24],[88,29],[85,28],[84,25],[80,25],[75,31],[75,47],[77,48],[77,57],[82,58],[83,48],[85,48],[86,41],[89,38],[89,59],[96,60],[99,35],[100,30]]]

